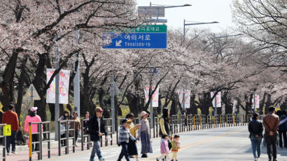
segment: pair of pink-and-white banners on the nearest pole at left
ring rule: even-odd
[[[47,69],[47,83],[50,80],[55,69]],[[69,104],[69,70],[59,71],[59,104]],[[55,78],[52,80],[49,89],[47,90],[47,103],[55,104]]]

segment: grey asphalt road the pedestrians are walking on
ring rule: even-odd
[[[181,133],[181,150],[179,160],[253,160],[251,142],[248,139],[247,127],[224,127],[209,130],[197,130]],[[140,153],[141,144],[138,143]],[[115,161],[120,153],[120,147],[102,148],[106,161]],[[287,160],[287,149],[279,149],[278,160]],[[153,139],[153,153],[141,161],[155,160],[160,156],[160,139]],[[88,161],[90,151],[78,151],[69,155],[51,158],[57,161]],[[125,160],[125,159],[123,159]],[[131,159],[135,160],[135,159]],[[262,146],[261,160],[267,160],[266,148]]]

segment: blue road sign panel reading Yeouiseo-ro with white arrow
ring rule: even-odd
[[[167,33],[106,33],[103,48],[167,48]]]

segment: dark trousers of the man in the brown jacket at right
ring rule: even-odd
[[[272,136],[265,136],[265,140],[266,140],[266,147],[267,147],[267,154],[268,154],[268,158],[269,160],[272,159],[273,156],[273,160],[276,160],[277,158],[277,133],[274,133],[274,135]]]

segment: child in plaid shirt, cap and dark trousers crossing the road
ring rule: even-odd
[[[120,156],[118,157],[118,161],[122,160],[125,155],[125,160],[130,161],[129,153],[127,151],[127,144],[129,143],[129,139],[132,141],[137,141],[132,134],[130,134],[129,123],[127,123],[127,118],[122,121],[123,126],[120,128],[120,134],[118,136],[118,146],[122,146],[122,151],[120,152]]]

